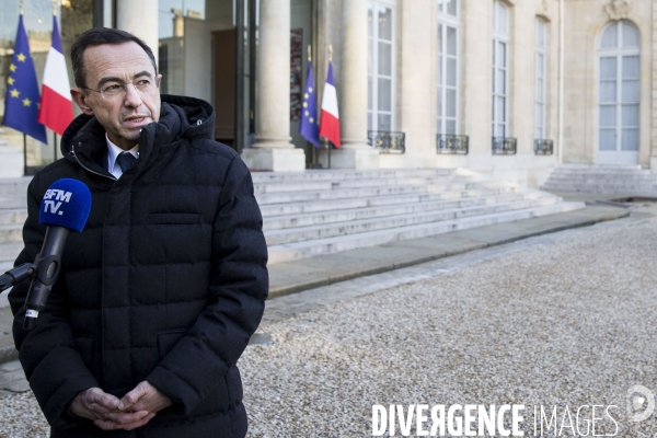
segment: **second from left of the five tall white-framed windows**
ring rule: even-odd
[[[459,0],[438,0],[438,134],[459,134]]]

